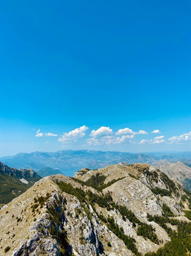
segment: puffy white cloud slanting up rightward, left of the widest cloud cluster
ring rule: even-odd
[[[78,138],[82,138],[86,135],[85,131],[87,131],[89,128],[87,126],[81,126],[80,128],[76,128],[75,130],[72,130],[69,133],[63,133],[62,137],[58,139],[58,141],[62,143],[69,143],[77,141]]]

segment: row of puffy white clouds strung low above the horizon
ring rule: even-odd
[[[64,132],[63,135],[61,135],[58,139],[59,142],[62,144],[70,143],[70,142],[76,142],[79,138],[82,138],[86,136],[86,131],[89,129],[88,126],[83,125],[79,128],[76,128],[70,132]],[[32,129],[33,131],[36,131],[36,129]],[[159,134],[161,133],[159,130],[154,130],[151,133],[153,134]],[[152,139],[142,139],[140,142],[136,142],[136,135],[147,135],[148,132],[144,130],[139,130],[138,132],[133,131],[132,129],[126,127],[124,129],[119,129],[117,132],[113,132],[110,127],[101,126],[97,130],[92,130],[89,134],[90,137],[86,139],[86,145],[88,146],[100,146],[100,145],[111,145],[111,144],[161,144],[161,143],[167,143],[165,141],[164,136],[156,136]],[[51,132],[42,133],[40,132],[40,129],[37,130],[36,137],[43,137],[43,136],[59,136],[58,134],[54,134]],[[168,139],[169,144],[183,144],[186,142],[191,142],[191,131],[188,133],[183,133],[179,136],[173,136]],[[48,142],[44,142],[44,144],[47,144]],[[84,145],[83,145],[84,146]],[[64,146],[65,147],[65,146]]]

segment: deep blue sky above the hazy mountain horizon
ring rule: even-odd
[[[0,156],[191,150],[189,1],[0,5]]]

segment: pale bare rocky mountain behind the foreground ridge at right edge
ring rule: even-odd
[[[167,163],[167,165],[155,166],[169,177],[179,180],[185,188],[191,191],[191,168],[182,162]]]

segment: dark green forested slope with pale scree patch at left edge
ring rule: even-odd
[[[0,204],[25,192],[41,177],[31,169],[17,170],[0,162]]]

